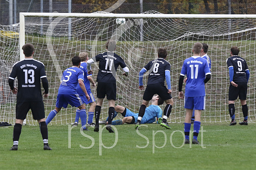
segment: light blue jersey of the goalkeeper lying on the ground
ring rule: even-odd
[[[145,114],[141,119],[142,124],[153,123],[155,118],[162,117],[162,109],[158,105],[150,105],[146,108]]]

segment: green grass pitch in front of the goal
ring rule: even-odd
[[[1,127],[0,165],[4,169],[27,170],[255,169],[254,123],[248,126],[202,123],[204,132],[199,133],[198,140],[203,139],[203,145],[191,146],[183,145],[184,125],[181,123],[170,124],[171,130],[158,124],[146,125],[148,127],[141,126],[138,133],[135,125],[127,124],[114,126],[115,133],[106,129],[102,133],[94,132],[91,127],[91,131],[80,133],[81,125],[73,129],[71,125],[49,125],[49,144],[53,150],[43,150],[39,126],[26,125],[22,128],[17,151],[9,150],[13,144],[13,126]]]

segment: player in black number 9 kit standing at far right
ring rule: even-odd
[[[243,122],[240,125],[247,125],[248,107],[246,104],[247,83],[250,72],[245,59],[238,56],[239,48],[233,46],[230,50],[230,57],[227,59],[229,69],[230,86],[229,86],[229,114],[232,121],[229,125],[236,125],[235,120],[235,100],[241,101],[243,111]]]

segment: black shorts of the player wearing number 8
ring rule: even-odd
[[[168,93],[168,89],[164,84],[148,84],[143,95],[143,100],[149,101],[155,94],[158,94],[164,101],[172,98],[172,95]]]

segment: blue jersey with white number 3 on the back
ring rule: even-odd
[[[77,94],[78,80],[84,81],[84,72],[77,67],[65,69],[61,77],[58,94]]]

